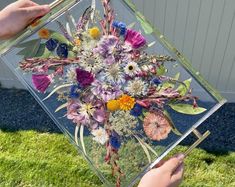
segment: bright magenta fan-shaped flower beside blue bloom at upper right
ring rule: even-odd
[[[132,48],[138,49],[146,44],[145,38],[137,31],[128,29],[125,42],[131,44]]]

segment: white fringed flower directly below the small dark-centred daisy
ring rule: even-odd
[[[135,78],[128,82],[126,91],[131,96],[141,96],[147,94],[147,85],[141,79]]]

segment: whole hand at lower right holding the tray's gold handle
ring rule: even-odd
[[[184,155],[160,162],[141,179],[138,187],[177,187],[183,179]]]

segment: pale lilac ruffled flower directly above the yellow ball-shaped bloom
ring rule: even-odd
[[[122,91],[118,86],[107,85],[99,81],[93,82],[91,91],[105,102],[116,99],[122,94]]]

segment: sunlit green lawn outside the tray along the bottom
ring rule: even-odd
[[[175,152],[187,147],[179,146]],[[0,131],[0,186],[102,186],[61,134]],[[186,159],[182,187],[235,187],[235,153],[196,149]]]

